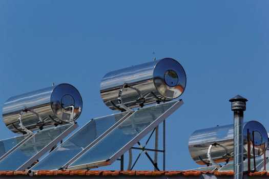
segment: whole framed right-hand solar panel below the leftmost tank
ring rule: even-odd
[[[71,123],[36,132],[31,138],[0,161],[0,170],[25,170],[60,140],[63,140],[76,127],[76,123]]]

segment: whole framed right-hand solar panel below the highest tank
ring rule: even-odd
[[[68,170],[110,165],[183,104],[181,100],[141,108],[82,154]]]

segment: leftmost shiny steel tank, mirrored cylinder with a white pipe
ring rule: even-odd
[[[24,133],[18,117],[25,108],[39,115],[38,118],[34,113],[28,112],[21,118],[23,125],[34,131],[76,120],[82,110],[82,99],[74,86],[65,83],[11,97],[3,107],[3,119],[11,131]]]

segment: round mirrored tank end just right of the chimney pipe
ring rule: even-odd
[[[268,136],[266,129],[258,121],[249,121],[245,123],[243,128],[243,143],[246,151],[247,151],[247,129],[249,129],[251,137],[251,155],[253,156],[253,143],[255,148],[255,156],[262,155],[268,146]],[[253,134],[254,134],[254,140],[253,140]]]

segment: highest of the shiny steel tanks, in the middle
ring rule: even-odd
[[[163,58],[129,68],[107,73],[100,84],[100,94],[105,104],[113,110],[128,108],[156,101],[169,101],[179,97],[185,89],[186,74],[180,63],[172,58]]]

